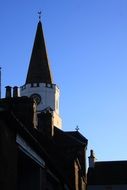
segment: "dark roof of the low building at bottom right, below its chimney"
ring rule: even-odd
[[[88,185],[127,184],[127,161],[95,162],[88,169]]]

